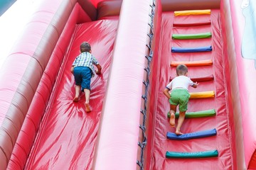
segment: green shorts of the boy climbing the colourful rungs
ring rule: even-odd
[[[171,91],[171,98],[169,102],[171,103],[171,105],[179,105],[179,111],[187,111],[189,98],[190,94],[186,89],[173,89]]]

